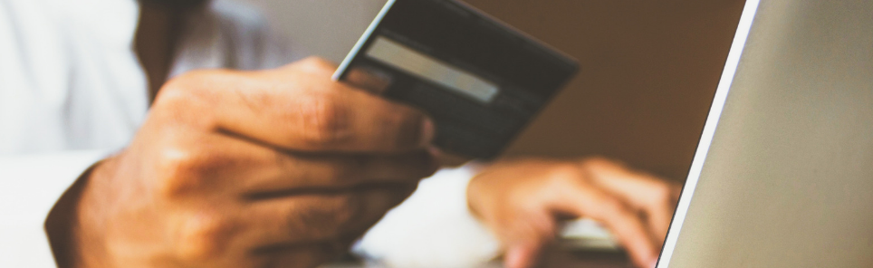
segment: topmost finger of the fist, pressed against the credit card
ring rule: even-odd
[[[312,62],[271,72],[193,72],[168,83],[155,110],[299,151],[393,153],[433,139],[434,124],[420,111],[331,81],[323,72],[329,67]]]

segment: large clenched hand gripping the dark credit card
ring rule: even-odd
[[[314,267],[346,252],[436,170],[434,127],[334,70],[311,58],[168,81],[130,147],[80,181],[69,241],[53,243],[62,266]]]

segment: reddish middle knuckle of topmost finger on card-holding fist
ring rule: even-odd
[[[318,94],[301,101],[302,139],[315,146],[331,146],[350,139],[350,109],[335,94]]]

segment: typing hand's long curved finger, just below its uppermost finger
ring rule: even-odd
[[[580,186],[565,189],[555,200],[555,207],[560,211],[588,216],[605,225],[640,267],[657,258],[646,224],[618,198],[596,187]]]

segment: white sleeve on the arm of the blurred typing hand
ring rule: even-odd
[[[499,242],[467,208],[476,169],[444,168],[422,180],[352,251],[391,267],[470,267],[494,259]]]

